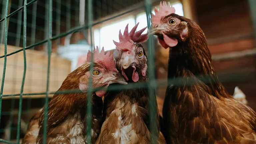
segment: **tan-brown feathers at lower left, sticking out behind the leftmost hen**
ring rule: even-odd
[[[22,144],[36,144],[36,139],[39,132],[39,118],[42,109],[40,109],[29,121],[28,128],[24,138],[22,139]]]

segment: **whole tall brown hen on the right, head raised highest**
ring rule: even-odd
[[[205,35],[166,2],[155,8],[149,34],[170,48],[163,106],[168,144],[254,144],[255,112],[227,93],[214,71]],[[197,78],[196,76],[201,76]],[[181,81],[182,80],[182,81]],[[182,83],[182,84],[181,84]]]

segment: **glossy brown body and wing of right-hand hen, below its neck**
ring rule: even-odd
[[[189,75],[192,75],[191,73]],[[255,112],[235,99],[218,99],[203,82],[167,91],[163,115],[165,135],[173,143],[256,143]],[[171,96],[170,94],[173,94]],[[174,104],[175,103],[175,104]]]

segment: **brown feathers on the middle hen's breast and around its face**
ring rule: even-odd
[[[143,49],[140,43],[135,43],[136,49]],[[121,51],[117,51],[117,55],[122,55]],[[145,51],[143,49],[145,55]],[[116,57],[116,67],[121,71],[121,57]],[[139,81],[148,81],[147,74],[142,76],[141,70],[147,64],[147,59],[144,57],[139,60],[139,66],[136,66],[136,71],[139,74]],[[126,73],[128,77],[132,73]],[[129,78],[130,79],[130,78]],[[128,81],[133,83],[131,81]],[[114,84],[118,86],[118,84]],[[110,144],[110,143],[129,143],[129,144],[149,144],[151,133],[149,131],[149,105],[148,105],[148,89],[140,88],[130,90],[117,90],[109,92],[104,99],[103,115],[106,118],[99,138],[96,144]],[[163,134],[159,131],[159,112],[155,98],[155,115],[157,125],[157,136],[154,140],[157,143],[165,144]]]

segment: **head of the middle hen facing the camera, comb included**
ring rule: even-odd
[[[140,43],[148,39],[147,34],[141,35],[147,27],[135,32],[138,25],[139,23],[128,33],[127,24],[124,35],[121,34],[121,30],[119,31],[120,42],[114,41],[117,48],[114,51],[117,69],[121,71],[127,81],[132,79],[134,82],[137,82],[140,76],[146,76],[147,72],[147,57]]]

